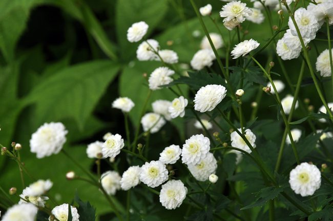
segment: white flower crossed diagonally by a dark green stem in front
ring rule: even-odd
[[[238,128],[239,132],[242,132],[241,128]],[[247,141],[253,146],[253,148],[256,147],[256,135],[253,134],[253,132],[251,131],[251,129],[246,129],[245,131],[245,138],[247,139]],[[230,140],[231,140],[231,145],[233,147],[242,149],[248,153],[251,153],[251,149],[248,147],[248,145],[245,143],[245,141],[243,140],[243,138],[236,132],[233,131],[230,135]]]

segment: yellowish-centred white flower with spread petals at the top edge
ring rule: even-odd
[[[220,11],[220,16],[224,17],[224,24],[232,20],[233,23],[238,25],[245,20],[246,16],[251,14],[252,10],[246,7],[245,3],[241,3],[241,1],[227,3],[222,7],[222,11]]]

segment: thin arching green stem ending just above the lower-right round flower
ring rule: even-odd
[[[285,127],[288,131],[288,135],[289,135],[289,138],[290,138],[290,142],[292,143],[292,148],[293,148],[293,151],[294,151],[294,155],[295,155],[295,158],[296,158],[296,162],[297,164],[300,164],[300,160],[299,160],[299,157],[298,157],[298,153],[297,153],[297,149],[296,149],[296,145],[295,145],[295,142],[293,140],[293,136],[292,136],[292,132],[290,132],[290,126],[289,126],[289,123],[288,123],[288,120],[286,118],[286,115],[284,113],[284,110],[283,110],[283,107],[282,107],[282,104],[281,104],[281,100],[280,100],[280,96],[279,96],[279,93],[278,91],[276,90],[276,87],[275,87],[275,84],[272,80],[272,78],[270,77],[270,75],[266,72],[266,70],[261,66],[261,64],[251,55],[249,55],[253,61],[258,64],[258,66],[260,67],[260,69],[264,72],[264,74],[266,75],[266,77],[268,78],[269,82],[272,84],[273,86],[273,89],[274,89],[274,92],[275,92],[275,98],[276,98],[276,101],[278,103],[278,105],[280,106],[280,109],[281,109],[281,115],[282,115],[282,119],[284,121],[284,124],[285,124]],[[295,100],[295,98],[294,98]]]

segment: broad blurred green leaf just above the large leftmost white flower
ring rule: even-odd
[[[27,98],[36,104],[36,122],[71,117],[82,128],[117,72],[115,63],[96,60],[53,74],[39,83]]]

